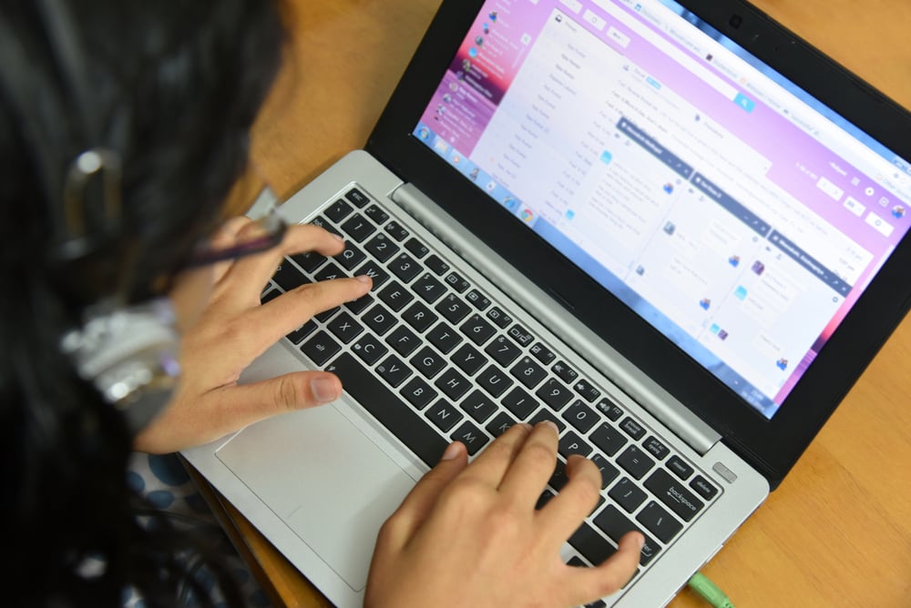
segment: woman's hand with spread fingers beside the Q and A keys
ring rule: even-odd
[[[229,246],[251,222],[230,220],[214,241]],[[338,399],[342,384],[324,371],[299,371],[239,385],[241,372],[313,315],[367,293],[367,277],[306,284],[261,305],[262,288],[286,255],[342,252],[341,238],[315,226],[292,226],[278,247],[182,276],[170,298],[178,310],[181,376],[169,407],[142,431],[139,451],[178,451],[252,422]]]

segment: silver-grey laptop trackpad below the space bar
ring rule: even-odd
[[[254,424],[216,456],[354,591],[380,526],[415,485],[332,405]]]

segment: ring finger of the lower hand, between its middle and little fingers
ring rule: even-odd
[[[598,504],[601,491],[601,473],[594,462],[581,456],[570,456],[567,460],[569,481],[557,496],[538,512],[542,528],[553,534],[560,545],[578,530],[582,520]]]

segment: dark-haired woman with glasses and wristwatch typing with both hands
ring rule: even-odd
[[[314,227],[220,223],[282,36],[262,0],[0,1],[0,515],[13,605],[115,605],[130,589],[147,605],[188,589],[210,603],[188,554],[241,603],[204,542],[138,504],[129,455],[341,394],[319,371],[236,385],[276,339],[371,288],[341,279],[260,306],[283,255],[343,243]],[[384,526],[367,603],[571,605],[618,588],[640,535],[598,568],[558,557],[597,498],[593,464],[572,459],[566,489],[534,509],[556,450],[548,425],[515,427],[471,466],[451,445]]]

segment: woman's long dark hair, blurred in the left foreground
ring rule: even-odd
[[[177,603],[176,556],[194,545],[138,515],[125,421],[59,344],[124,276],[128,299],[148,299],[210,231],[246,166],[282,40],[264,0],[0,0],[6,605],[118,605],[130,587],[147,605]],[[89,206],[100,236],[70,258],[63,184],[93,147],[121,159],[122,218],[110,230]],[[93,560],[99,573],[85,569]]]

